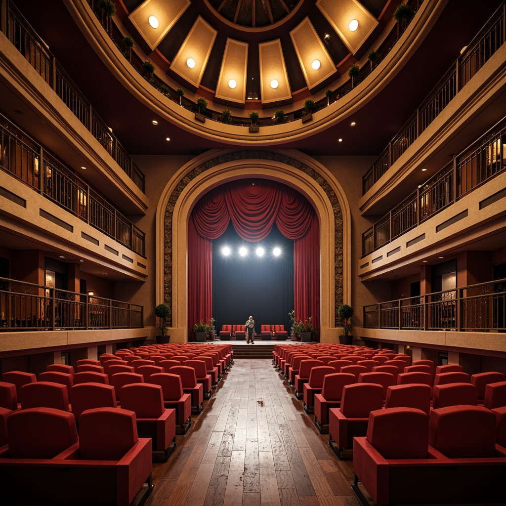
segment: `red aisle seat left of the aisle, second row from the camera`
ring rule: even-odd
[[[151,438],[153,460],[165,461],[176,440],[176,410],[165,408],[161,386],[125,385],[121,389],[121,408],[135,412],[139,436]]]

